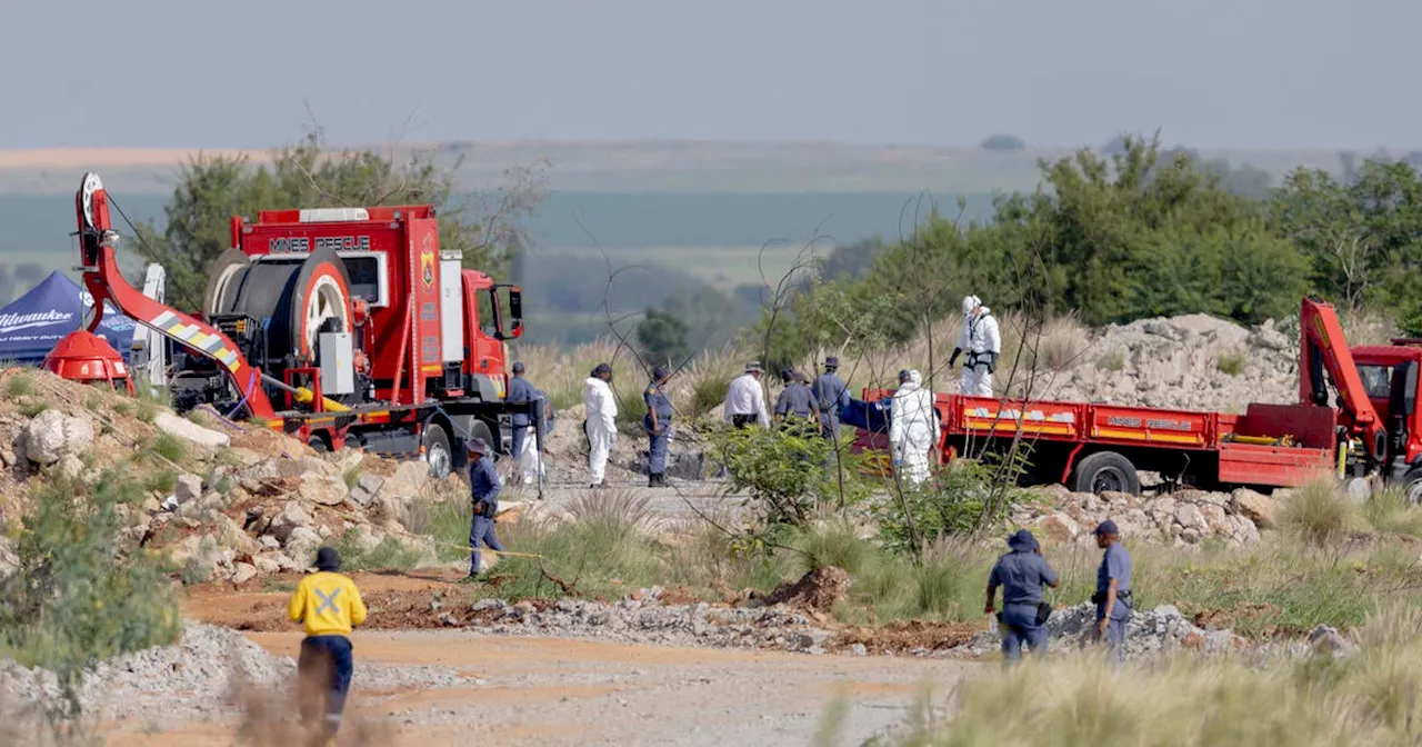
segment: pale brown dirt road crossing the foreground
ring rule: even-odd
[[[250,633],[294,656],[297,633]],[[444,689],[363,690],[353,724],[380,744],[811,744],[836,697],[848,743],[900,721],[919,687],[944,690],[974,664],[904,657],[805,656],[567,639],[482,636],[464,630],[357,633],[363,662],[437,664],[475,677]],[[162,724],[159,714],[112,724],[109,744],[236,744],[239,716]]]

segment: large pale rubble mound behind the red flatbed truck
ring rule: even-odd
[[[1246,329],[1204,314],[1112,324],[1044,397],[1148,407],[1243,411],[1297,398],[1298,322]]]

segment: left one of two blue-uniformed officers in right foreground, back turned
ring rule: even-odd
[[[1025,643],[1038,657],[1047,656],[1047,625],[1038,616],[1042,605],[1042,585],[1057,588],[1057,572],[1042,559],[1042,546],[1032,532],[1021,529],[1007,538],[1008,553],[997,559],[987,576],[987,608],[993,615],[997,588],[1003,588],[1003,663],[1022,660]]]

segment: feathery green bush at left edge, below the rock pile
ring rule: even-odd
[[[104,492],[55,481],[34,495],[16,542],[18,572],[0,589],[0,636],[27,666],[55,673],[53,724],[75,726],[94,662],[171,643],[178,602],[159,558],[121,548],[122,522]]]

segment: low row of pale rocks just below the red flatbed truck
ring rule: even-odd
[[[1247,488],[1234,492],[1182,489],[1136,497],[1125,492],[1069,492],[1061,485],[1034,491],[1038,501],[1012,516],[1045,542],[1091,542],[1091,532],[1105,519],[1123,536],[1169,542],[1176,546],[1219,539],[1236,545],[1258,542],[1260,531],[1274,526],[1277,502]]]

